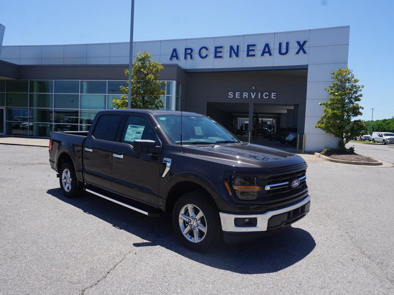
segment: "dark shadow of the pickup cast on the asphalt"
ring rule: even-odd
[[[171,217],[150,218],[94,195],[84,193],[80,198],[66,198],[61,189],[50,189],[48,194],[94,215],[132,235],[146,240],[135,247],[162,246],[198,263],[242,274],[276,272],[294,265],[315,248],[313,237],[298,228],[242,244],[220,243],[206,253],[196,253],[183,247],[175,238]]]

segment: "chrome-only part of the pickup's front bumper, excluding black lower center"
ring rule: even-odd
[[[294,204],[292,206],[268,211],[264,214],[229,214],[219,212],[220,214],[220,221],[222,223],[222,230],[224,232],[233,232],[233,233],[242,233],[242,232],[265,232],[268,226],[268,219],[274,215],[282,214],[294,210],[298,207],[301,207],[307,204],[311,200],[310,196],[307,196],[301,202]],[[238,227],[234,225],[235,218],[257,218],[257,226],[252,227]]]

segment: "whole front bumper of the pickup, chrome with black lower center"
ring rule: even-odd
[[[310,196],[289,207],[272,210],[263,214],[230,214],[219,212],[222,230],[226,233],[267,232],[288,226],[304,217],[309,212]],[[256,221],[253,226],[236,226],[236,220]],[[253,222],[252,222],[253,223]]]

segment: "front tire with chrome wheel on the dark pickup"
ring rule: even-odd
[[[186,193],[175,203],[172,212],[175,236],[187,248],[204,252],[219,241],[219,213],[206,196],[199,192]]]

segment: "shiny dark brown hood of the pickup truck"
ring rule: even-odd
[[[236,167],[240,172],[268,172],[305,164],[300,156],[283,150],[249,143],[184,145],[189,156]]]

